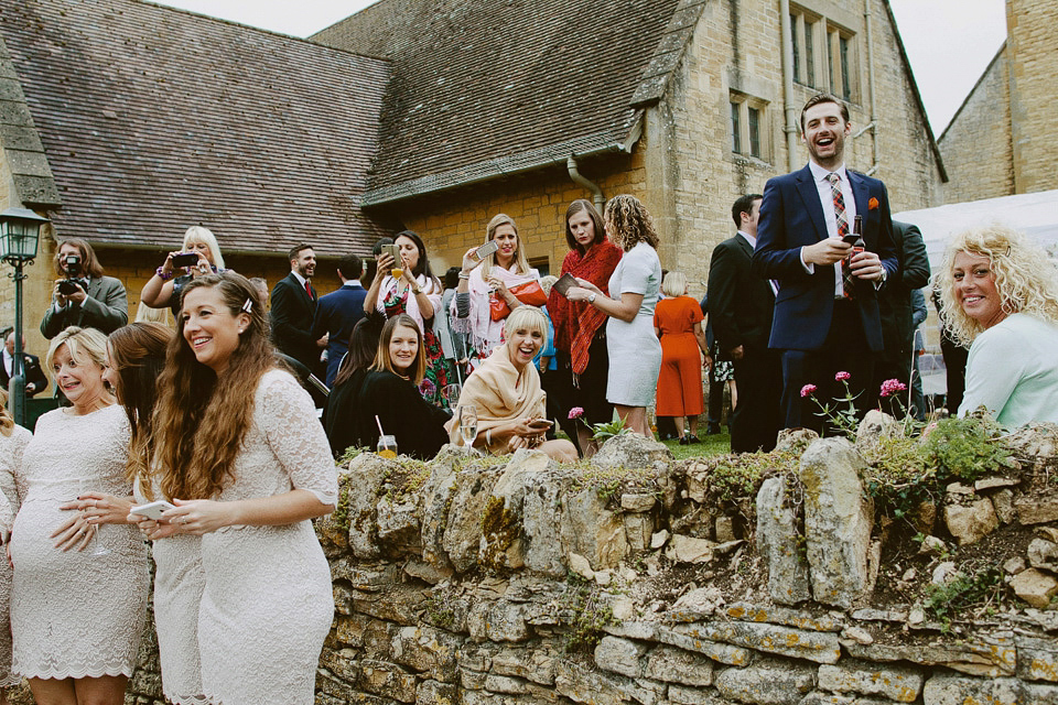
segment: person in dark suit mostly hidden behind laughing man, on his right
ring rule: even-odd
[[[915,328],[911,319],[911,292],[929,284],[929,258],[926,257],[926,242],[918,226],[909,223],[893,221],[893,240],[896,245],[900,264],[899,276],[888,281],[878,292],[878,315],[882,319],[882,339],[885,352],[878,359],[874,370],[874,394],[878,393],[882,382],[897,379],[911,389],[911,356],[915,348]],[[900,394],[883,406],[886,411],[900,414],[907,411],[908,395]],[[873,405],[873,404],[872,404]],[[900,414],[903,416],[903,414]]]

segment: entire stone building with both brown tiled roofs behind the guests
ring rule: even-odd
[[[93,241],[134,313],[196,224],[274,280],[294,241],[364,253],[401,227],[443,271],[505,212],[557,271],[569,202],[631,193],[700,295],[732,202],[807,161],[794,126],[820,89],[894,209],[937,202],[886,0],[380,0],[312,41],[139,0],[0,0],[0,206],[54,224],[29,347],[56,237]]]

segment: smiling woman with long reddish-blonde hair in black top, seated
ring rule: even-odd
[[[349,377],[350,387],[338,399],[342,405],[333,412],[328,409],[328,417],[352,416],[356,444],[363,447],[376,447],[381,425],[386,435],[396,437],[400,454],[433,458],[447,443],[444,422],[449,412],[417,391],[427,370],[425,352],[422,333],[411,316],[399,314],[387,321],[374,362],[363,377]]]

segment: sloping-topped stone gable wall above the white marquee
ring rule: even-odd
[[[1006,46],[998,51],[938,140],[949,178],[943,203],[1015,193],[1007,55]]]

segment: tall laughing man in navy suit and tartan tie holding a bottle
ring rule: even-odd
[[[768,180],[760,204],[753,271],[778,281],[769,345],[782,351],[782,411],[788,429],[822,430],[806,384],[823,401],[843,398],[834,381],[848,372],[855,404],[866,412],[874,356],[882,351],[877,289],[897,273],[885,184],[845,169],[849,108],[819,94],[801,110],[805,169]],[[863,217],[864,249],[842,238]],[[805,390],[807,391],[807,390]]]

